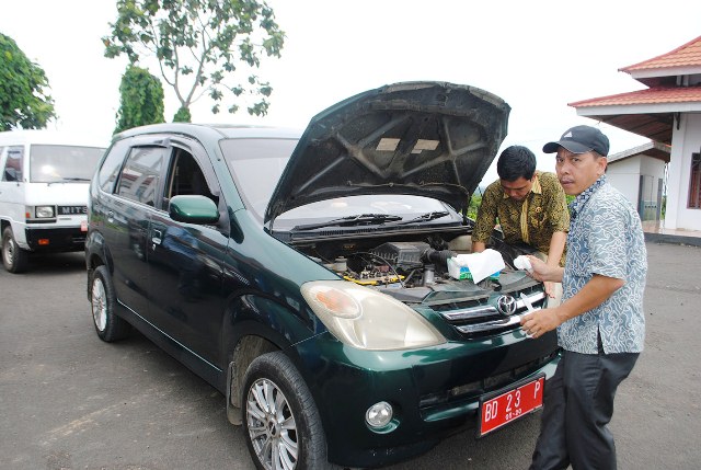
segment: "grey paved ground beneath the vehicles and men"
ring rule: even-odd
[[[647,250],[646,351],[611,425],[619,468],[698,469],[701,248]],[[479,442],[459,434],[390,469],[525,469],[538,420]],[[217,391],[141,335],[97,339],[80,254],[0,271],[0,422],[3,469],[254,468]]]

